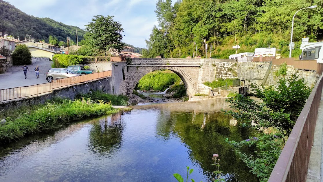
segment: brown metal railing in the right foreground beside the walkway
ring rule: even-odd
[[[314,140],[322,77],[318,80],[300,113],[292,133],[272,171],[269,182],[306,181],[309,156]]]

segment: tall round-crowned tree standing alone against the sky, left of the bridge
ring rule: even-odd
[[[89,44],[96,49],[106,51],[111,48],[121,50],[124,44],[121,42],[123,28],[120,22],[113,20],[114,16],[94,16],[92,22],[86,25],[86,36]]]

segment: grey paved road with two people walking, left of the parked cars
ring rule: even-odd
[[[8,89],[14,87],[30,86],[41,83],[48,83],[46,80],[46,72],[51,68],[52,61],[33,61],[31,65],[27,65],[30,72],[27,72],[27,79],[25,79],[22,66],[12,66],[7,73],[0,74],[0,89]],[[36,79],[35,68],[39,66],[39,78]]]

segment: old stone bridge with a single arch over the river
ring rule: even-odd
[[[121,70],[122,69],[122,70]],[[131,64],[115,62],[112,73],[115,74],[114,94],[131,96],[139,80],[147,73],[167,69],[176,73],[185,84],[187,94],[209,94],[210,88],[205,81],[212,82],[215,78],[237,78],[236,63],[232,59],[148,59],[134,58]],[[120,78],[119,80],[117,78]]]

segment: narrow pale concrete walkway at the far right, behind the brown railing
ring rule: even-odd
[[[308,164],[307,182],[318,182],[323,177],[323,92],[321,95],[320,107],[318,108],[318,120],[315,126],[314,142],[311,150],[311,155]]]

